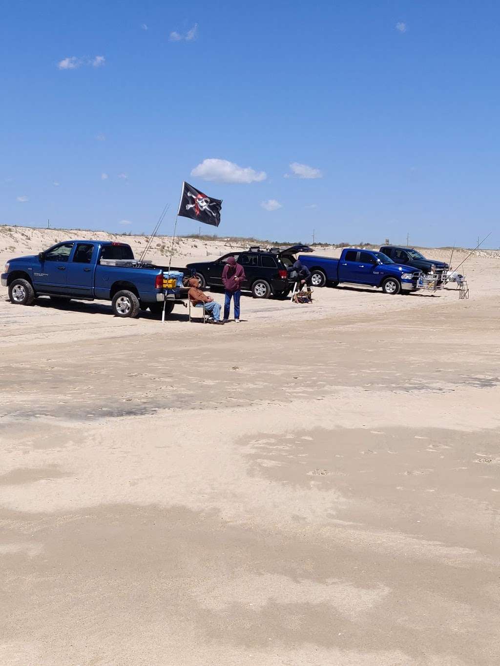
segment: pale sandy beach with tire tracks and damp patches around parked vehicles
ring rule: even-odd
[[[2,265],[93,237],[2,229]],[[500,258],[463,268],[469,300],[243,296],[218,327],[1,288],[0,663],[499,663]]]

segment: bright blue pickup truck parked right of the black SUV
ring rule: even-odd
[[[311,284],[322,287],[331,282],[368,284],[381,287],[385,294],[409,294],[417,290],[421,270],[395,264],[382,252],[345,248],[340,259],[315,254],[301,254],[299,259],[311,271]]]

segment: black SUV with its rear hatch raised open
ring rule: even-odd
[[[284,298],[293,288],[295,280],[289,278],[289,270],[295,262],[294,254],[297,252],[313,252],[307,245],[293,245],[282,250],[269,248],[261,250],[257,246],[245,252],[229,252],[215,261],[196,262],[187,264],[187,268],[194,268],[199,279],[200,287],[222,287],[222,271],[227,258],[233,256],[245,270],[246,280],[241,288],[251,291],[255,298],[269,298],[271,294]]]

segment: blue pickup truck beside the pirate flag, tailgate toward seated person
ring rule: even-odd
[[[1,276],[9,298],[31,305],[37,296],[53,300],[111,300],[117,317],[137,317],[140,310],[158,314],[165,304],[170,314],[175,303],[185,304],[182,285],[186,268],[155,266],[135,260],[132,248],[103,240],[67,240],[38,255],[11,259]],[[177,275],[175,275],[177,273]]]

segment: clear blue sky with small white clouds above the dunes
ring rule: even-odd
[[[0,223],[500,246],[497,2],[1,7]]]

